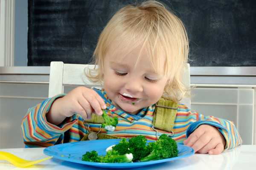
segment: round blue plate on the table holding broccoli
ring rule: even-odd
[[[97,163],[97,162],[87,162],[81,161],[82,156],[87,151],[96,150],[98,155],[104,156],[106,154],[107,147],[118,144],[120,139],[103,139],[94,141],[79,141],[66,144],[58,144],[44,149],[44,154],[48,156],[53,156],[54,158],[62,159],[64,161],[76,162],[79,164],[86,164],[93,167],[101,168],[135,168],[143,167],[152,164],[159,164],[162,162],[173,161],[180,158],[186,158],[192,156],[195,151],[191,147],[178,144],[178,156],[175,158],[161,159],[157,161],[147,161],[147,162],[134,162],[134,163]],[[152,142],[152,141],[147,141]]]

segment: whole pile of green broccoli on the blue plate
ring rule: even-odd
[[[132,137],[127,141],[122,139],[112,150],[108,150],[105,156],[98,156],[93,150],[83,155],[82,161],[101,163],[127,163],[132,161],[154,161],[178,156],[177,143],[166,134],[157,141],[149,142],[143,135]]]

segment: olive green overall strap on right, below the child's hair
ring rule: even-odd
[[[179,103],[170,99],[160,98],[154,110],[154,127],[172,132]]]

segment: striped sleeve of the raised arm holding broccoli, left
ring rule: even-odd
[[[64,94],[61,94],[48,98],[28,110],[21,124],[23,141],[28,147],[49,147],[63,143],[64,132],[76,124],[78,116],[75,114],[66,118],[60,127],[50,124],[46,120],[46,114],[52,102],[63,96]]]

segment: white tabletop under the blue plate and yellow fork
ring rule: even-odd
[[[0,149],[12,153],[26,160],[38,160],[48,156],[43,153],[44,148],[18,148]],[[0,170],[22,169],[0,160]],[[35,164],[29,170],[102,170],[102,168],[90,167],[84,164],[77,164],[69,161],[62,161],[51,158],[47,161]],[[241,145],[234,149],[227,150],[220,155],[195,154],[193,156],[155,164],[152,166],[134,168],[134,170],[253,170],[256,169],[256,145]]]

